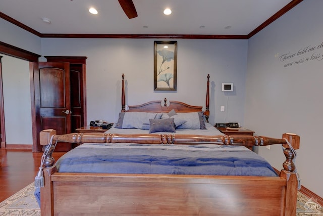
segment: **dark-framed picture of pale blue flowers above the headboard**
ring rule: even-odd
[[[177,41],[154,41],[154,91],[176,91]]]

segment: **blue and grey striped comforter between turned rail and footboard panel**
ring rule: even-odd
[[[218,145],[83,144],[56,163],[59,172],[277,176],[245,147]]]

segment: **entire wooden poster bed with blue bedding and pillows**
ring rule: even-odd
[[[122,110],[114,128],[104,134],[56,135],[52,129],[42,131],[40,142],[46,154],[41,169],[41,215],[295,215],[299,182],[294,149],[299,148],[299,136],[286,133],[282,139],[275,139],[217,132],[208,123],[208,85],[209,76],[205,111],[201,106],[166,99],[125,110],[123,75]],[[149,116],[149,129],[142,128],[147,120],[132,119],[129,123],[129,116],[141,114]],[[192,115],[192,119],[204,119],[204,129],[187,131],[176,126],[175,132],[170,132],[183,116]],[[141,128],[132,128],[138,122]],[[160,122],[165,125],[158,125]],[[51,157],[55,147],[48,145],[51,141],[82,145],[55,163]],[[274,144],[282,144],[286,156],[284,169],[278,174],[246,148]],[[86,161],[93,158],[96,163],[88,165]],[[198,165],[192,158],[198,158]],[[248,160],[241,162],[243,158]],[[263,166],[259,168],[258,163]],[[69,169],[72,164],[76,166]],[[223,166],[229,166],[230,171]],[[246,174],[245,170],[251,172]]]

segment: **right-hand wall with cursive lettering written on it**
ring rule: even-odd
[[[300,136],[296,166],[301,184],[321,197],[323,48],[318,46],[323,42],[322,8],[321,0],[303,1],[249,39],[245,100],[245,125],[258,135],[280,137],[292,132]],[[295,56],[280,61],[284,54]],[[311,60],[315,54],[319,58]],[[284,67],[288,63],[292,65]],[[285,157],[280,146],[259,148],[259,154],[282,168]]]

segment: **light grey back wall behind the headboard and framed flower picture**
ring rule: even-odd
[[[158,40],[158,39],[156,39]],[[87,56],[88,122],[116,122],[121,110],[121,75],[126,79],[126,103],[179,100],[205,107],[210,74],[211,123],[243,123],[247,40],[179,39],[177,92],[153,92],[153,39],[42,38],[43,56]],[[221,92],[222,82],[235,91]],[[226,112],[220,112],[220,106]]]

